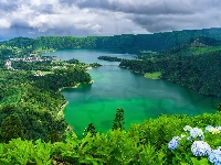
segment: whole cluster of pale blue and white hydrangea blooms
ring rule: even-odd
[[[202,141],[204,139],[204,134],[201,129],[186,125],[183,130],[185,134],[182,133],[180,138],[173,136],[172,140],[168,143],[169,150],[176,150],[180,144],[180,140],[187,139],[190,142],[193,142],[191,145],[191,152],[194,156],[208,156],[208,160],[211,163],[214,165],[221,165],[221,146],[219,146],[217,150],[212,150],[207,142]],[[221,133],[221,127],[208,125],[206,127],[204,132],[219,134]]]

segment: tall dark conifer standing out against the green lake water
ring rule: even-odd
[[[112,127],[112,130],[117,130],[117,129],[120,129],[120,130],[124,130],[124,110],[122,108],[118,108],[117,109],[117,112],[115,114],[115,119],[114,119],[114,122],[113,122],[113,127]]]

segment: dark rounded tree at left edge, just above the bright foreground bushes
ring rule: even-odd
[[[18,116],[11,114],[3,120],[1,124],[1,136],[6,143],[11,139],[24,139],[23,127]]]

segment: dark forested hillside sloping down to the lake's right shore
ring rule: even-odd
[[[218,40],[199,37],[157,55],[125,59],[119,66],[141,74],[160,72],[159,78],[204,96],[221,97],[220,45]]]

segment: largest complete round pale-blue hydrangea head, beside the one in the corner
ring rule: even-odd
[[[194,156],[207,156],[211,152],[211,147],[207,142],[194,141],[191,145],[191,152]]]

